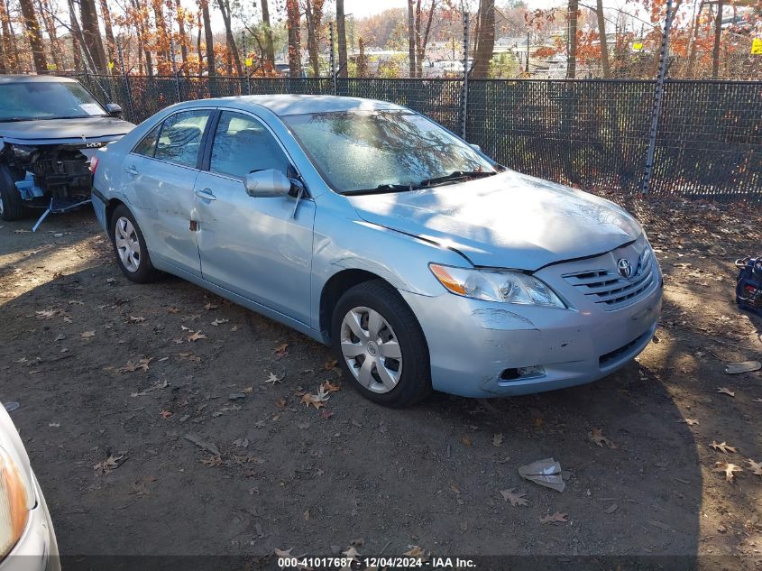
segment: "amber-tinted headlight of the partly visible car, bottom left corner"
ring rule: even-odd
[[[23,475],[11,456],[0,448],[0,558],[8,555],[26,528],[26,498]]]

